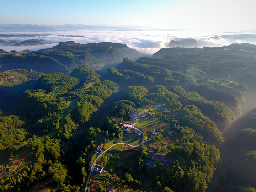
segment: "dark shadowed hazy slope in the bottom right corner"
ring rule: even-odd
[[[213,176],[213,185],[225,182],[222,191],[255,191],[256,184],[256,109],[251,110],[233,124],[224,135],[222,166]],[[235,167],[235,169],[233,169]],[[245,187],[246,186],[246,187]],[[254,188],[252,188],[254,187]],[[215,190],[216,187],[211,186]]]

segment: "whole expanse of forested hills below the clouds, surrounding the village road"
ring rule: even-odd
[[[98,146],[117,143],[97,161],[108,172],[91,175],[91,191],[255,191],[245,177],[255,111],[238,120],[256,87],[255,51],[163,48],[134,61],[125,56],[137,51],[108,42],[0,50],[0,192],[85,191]],[[121,129],[134,123],[143,136]]]

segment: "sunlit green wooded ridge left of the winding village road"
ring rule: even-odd
[[[85,153],[95,147],[96,135],[101,133],[101,129],[90,127],[94,122],[91,115],[99,110],[105,99],[118,91],[118,85],[111,81],[101,83],[97,79],[99,75],[87,67],[77,69],[76,74],[83,76],[80,78],[80,83],[79,79],[62,73],[43,75],[37,83],[37,88],[41,89],[25,91],[21,96],[20,114],[29,121],[30,126],[27,126],[27,131],[34,136],[29,135],[32,138],[18,145],[25,139],[27,132],[20,128],[16,133],[14,128],[9,128],[13,131],[14,139],[10,140],[10,137],[6,140],[3,137],[8,130],[3,129],[1,148],[17,144],[17,148],[11,148],[14,149],[14,153],[24,146],[27,150],[31,148],[29,157],[32,161],[29,163],[24,161],[27,162],[27,167],[22,169],[27,173],[21,172],[18,181],[8,173],[7,177],[12,179],[9,184],[7,180],[1,180],[0,191],[8,188],[26,189],[28,186],[35,186],[38,181],[45,181],[46,178],[51,178],[53,185],[58,186],[59,190],[68,191],[74,189],[68,184],[70,181],[79,185],[85,182],[87,175],[85,167],[90,162],[89,160],[87,164],[85,163]],[[4,122],[16,126],[14,120],[12,122],[9,120],[12,118],[17,119],[6,116]],[[88,123],[90,121],[91,123]],[[107,135],[108,132],[112,135],[115,133],[117,138],[122,139],[122,130],[118,127],[120,129],[118,132],[116,124],[111,120],[109,123],[109,125],[105,124],[102,130]],[[3,126],[6,127],[6,123]],[[24,133],[21,134],[21,131]],[[81,150],[85,152],[81,153]],[[75,169],[70,167],[71,164],[75,165]],[[74,180],[70,175],[75,176]],[[20,183],[21,180],[23,184],[16,185],[16,182]]]

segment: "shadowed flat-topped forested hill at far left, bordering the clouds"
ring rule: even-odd
[[[89,65],[92,69],[102,69],[107,65],[122,62],[124,57],[139,58],[135,49],[121,43],[88,43],[74,41],[60,42],[53,48],[28,52],[0,51],[0,71],[28,68],[42,73],[62,72],[70,74],[73,69]]]

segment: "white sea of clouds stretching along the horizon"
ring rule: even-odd
[[[27,34],[37,35],[34,37],[0,37],[0,49],[5,51],[23,50],[36,51],[43,48],[52,48],[59,42],[75,41],[77,43],[97,43],[113,42],[127,44],[128,47],[137,51],[152,55],[160,48],[169,48],[171,40],[192,38],[196,40],[197,47],[219,47],[230,45],[231,43],[251,43],[256,44],[256,34],[199,34],[194,31],[186,30],[134,30],[134,31],[58,31],[58,32],[2,32],[2,34]],[[21,42],[29,39],[37,39],[46,43],[33,46],[14,46],[15,42]],[[1,42],[1,40],[3,40]]]

